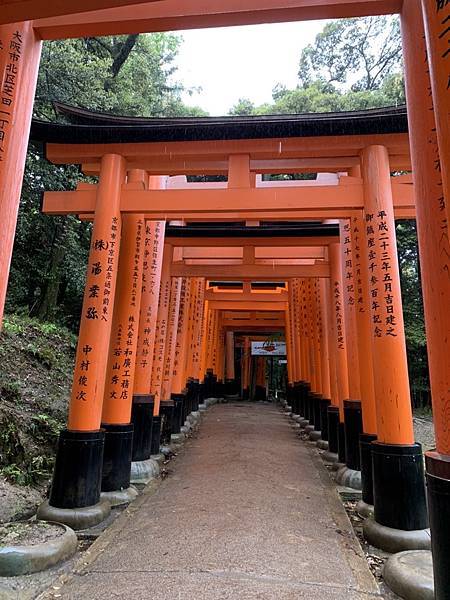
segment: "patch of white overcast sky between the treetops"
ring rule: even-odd
[[[227,114],[239,98],[255,104],[272,100],[277,83],[297,84],[301,49],[325,21],[183,31],[176,78],[202,91],[185,96],[211,115]]]

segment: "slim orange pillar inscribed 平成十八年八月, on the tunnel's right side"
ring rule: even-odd
[[[345,344],[345,313],[344,297],[342,293],[342,263],[339,244],[330,244],[329,246],[330,276],[333,297],[333,349],[336,363],[336,380],[338,391],[339,421],[333,421],[338,427],[338,454],[339,461],[345,462],[345,429],[344,429],[344,400],[349,396],[348,387],[348,363],[347,347]],[[330,439],[331,442],[331,439]],[[336,452],[331,449],[330,451]]]

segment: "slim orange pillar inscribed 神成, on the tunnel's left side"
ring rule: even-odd
[[[164,244],[163,262],[161,268],[161,284],[159,288],[158,316],[156,320],[155,345],[153,350],[152,379],[150,384],[150,393],[154,396],[153,414],[158,416],[161,407],[161,388],[164,374],[164,359],[166,351],[167,324],[169,318],[169,302],[171,277],[170,269],[172,265],[173,247],[167,243]],[[163,416],[161,412],[161,416]]]

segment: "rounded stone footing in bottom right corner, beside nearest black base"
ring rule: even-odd
[[[435,599],[433,559],[428,550],[407,550],[393,554],[384,565],[383,579],[400,598]]]

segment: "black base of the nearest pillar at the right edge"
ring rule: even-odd
[[[425,453],[434,597],[450,600],[450,456]]]

